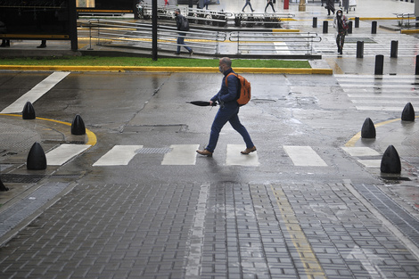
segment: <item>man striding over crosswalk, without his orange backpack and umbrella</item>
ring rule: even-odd
[[[231,65],[232,62],[228,57],[219,60],[218,70],[224,75],[224,78],[221,82],[221,88],[219,89],[218,94],[215,94],[209,101],[210,105],[218,102],[219,109],[214,122],[212,122],[209,144],[204,150],[196,151],[204,156],[212,157],[212,153],[218,143],[219,133],[227,122],[230,122],[234,130],[242,135],[244,143],[246,143],[246,149],[241,153],[247,155],[256,151],[256,146],[251,141],[251,135],[249,135],[248,131],[242,126],[242,123],[240,123],[239,120],[239,104],[236,101],[239,90],[239,78],[235,75],[228,75],[234,73]]]

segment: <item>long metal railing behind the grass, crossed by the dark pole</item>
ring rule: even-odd
[[[132,46],[152,49],[152,25],[124,21],[91,20],[89,23],[90,49],[92,44],[110,46]],[[195,53],[218,54],[219,43],[226,41],[226,32],[158,26],[158,49],[175,51],[179,32],[185,33],[185,45]],[[181,45],[184,46],[184,45]]]

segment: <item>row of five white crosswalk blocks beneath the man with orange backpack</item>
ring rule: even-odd
[[[48,166],[61,166],[77,155],[86,152],[91,146],[87,144],[62,144],[45,154]],[[227,144],[226,150],[218,150],[214,156],[225,157],[225,166],[259,167],[258,152],[248,155],[241,154],[245,148],[243,144]],[[144,145],[114,145],[105,152],[98,160],[94,161],[93,167],[127,166],[136,157],[141,160],[143,154],[156,154],[160,156],[161,166],[194,166],[200,163],[196,150],[199,144],[172,144],[169,147],[147,148]],[[297,167],[328,167],[325,160],[310,146],[283,145],[283,151],[290,158],[290,163]],[[225,154],[223,154],[225,152]],[[144,160],[149,157],[144,156]]]

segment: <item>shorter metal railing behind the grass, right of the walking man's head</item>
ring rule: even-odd
[[[313,43],[321,42],[317,33],[232,32],[230,41],[237,42],[237,54],[306,52],[313,53]],[[283,47],[285,46],[285,47]]]

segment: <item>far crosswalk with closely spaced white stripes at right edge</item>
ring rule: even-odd
[[[419,105],[419,78],[415,76],[335,75],[358,111],[403,111]]]

